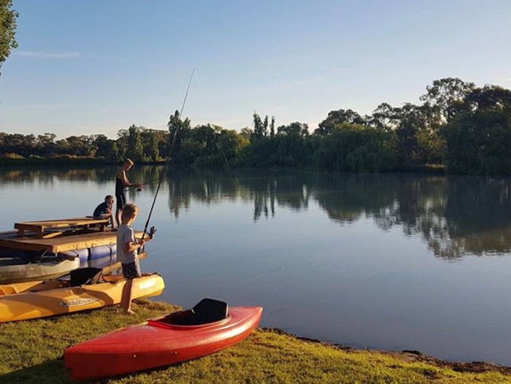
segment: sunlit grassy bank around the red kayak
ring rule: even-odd
[[[66,383],[62,352],[108,330],[136,324],[177,307],[138,301],[136,315],[117,307],[0,324],[0,383]],[[257,330],[209,357],[102,381],[106,383],[511,383],[511,369],[455,364],[416,353],[350,350]]]

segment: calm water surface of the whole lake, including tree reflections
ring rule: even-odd
[[[114,172],[1,169],[1,229],[91,214]],[[511,179],[169,173],[142,262],[165,278],[161,299],[261,305],[262,326],[305,337],[511,365]],[[128,194],[139,229],[155,189]]]

